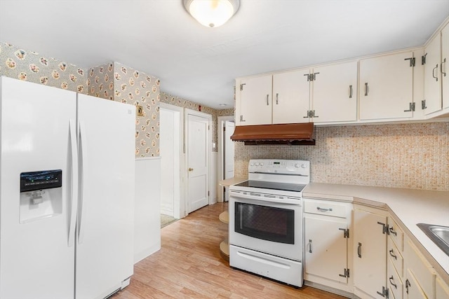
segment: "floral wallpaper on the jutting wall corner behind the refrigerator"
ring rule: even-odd
[[[157,157],[159,148],[160,81],[118,62],[93,67],[88,71],[88,95],[142,106],[143,116],[135,120],[136,158]]]

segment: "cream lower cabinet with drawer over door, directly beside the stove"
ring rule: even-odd
[[[307,281],[351,291],[348,263],[351,206],[304,199],[304,279]]]

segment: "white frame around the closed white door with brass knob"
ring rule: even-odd
[[[184,132],[185,132],[185,144],[184,144],[185,145],[184,146],[184,149],[185,149],[185,151],[184,151],[185,162],[184,162],[184,165],[185,165],[185,168],[183,170],[183,174],[184,174],[184,176],[186,178],[185,179],[185,206],[184,206],[186,216],[188,214],[187,213],[187,204],[188,204],[188,201],[189,201],[189,199],[188,199],[189,176],[187,176],[187,167],[188,167],[188,161],[187,161],[187,159],[188,159],[188,146],[187,146],[187,144],[189,144],[189,142],[188,142],[188,138],[189,138],[189,134],[188,134],[188,132],[189,132],[189,115],[199,116],[199,117],[208,119],[208,143],[207,143],[207,149],[206,149],[206,153],[207,153],[206,154],[206,160],[207,160],[207,163],[208,163],[208,176],[209,176],[209,179],[208,179],[208,190],[209,190],[208,204],[213,204],[212,199],[211,199],[212,197],[211,197],[211,194],[210,194],[210,186],[213,186],[213,183],[212,183],[212,172],[211,172],[212,165],[210,165],[211,143],[212,143],[212,130],[210,130],[210,126],[212,125],[212,115],[208,114],[208,113],[201,112],[201,111],[196,111],[196,110],[185,108],[184,109],[184,120],[185,120],[185,126],[184,126]]]

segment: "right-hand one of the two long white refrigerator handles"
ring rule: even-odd
[[[79,149],[81,151],[79,155],[79,165],[80,165],[80,176],[79,176],[79,213],[78,213],[78,244],[83,243],[84,239],[84,223],[83,223],[83,214],[86,213],[86,201],[84,197],[86,196],[85,183],[87,181],[87,144],[86,144],[86,132],[83,123],[79,122]]]

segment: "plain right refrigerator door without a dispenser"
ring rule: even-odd
[[[93,299],[133,274],[135,107],[78,95],[76,298]]]

